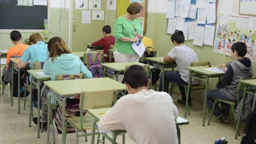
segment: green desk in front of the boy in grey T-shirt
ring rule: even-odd
[[[176,62],[170,62],[170,63],[166,63],[163,62],[163,60],[161,59],[163,58],[163,56],[159,56],[159,57],[151,57],[151,58],[145,58],[145,60],[148,60],[148,64],[150,61],[152,62],[156,62],[157,66],[156,68],[159,70],[162,70],[162,79],[164,79],[164,69],[165,68],[172,68],[172,70],[174,70],[174,67],[176,67]],[[172,84],[171,84],[171,89],[172,89]],[[164,81],[162,80],[162,91],[164,91]]]

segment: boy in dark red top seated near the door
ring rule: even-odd
[[[104,49],[104,54],[108,57],[104,57],[105,62],[109,62],[109,49],[110,45],[115,45],[115,38],[111,35],[111,27],[109,25],[103,26],[102,32],[104,37],[100,40],[93,42],[92,46],[102,46]],[[114,59],[112,59],[113,61]]]

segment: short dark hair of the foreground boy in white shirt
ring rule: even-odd
[[[125,83],[129,84],[131,88],[138,88],[147,86],[148,75],[145,68],[141,65],[131,65],[125,71]]]

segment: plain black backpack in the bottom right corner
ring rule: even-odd
[[[241,144],[256,144],[256,111],[247,117]]]

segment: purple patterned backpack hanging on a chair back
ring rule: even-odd
[[[88,53],[89,67],[88,70],[92,73],[93,78],[103,77],[103,70],[100,65],[100,53],[97,53],[97,62],[93,63],[92,53]]]

